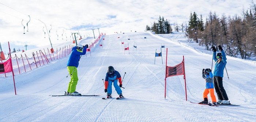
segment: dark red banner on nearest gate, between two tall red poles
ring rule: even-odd
[[[169,66],[166,66],[167,70],[166,70],[166,76],[165,78],[167,77],[170,77],[170,76],[176,76],[176,75],[184,75],[184,62],[181,62],[180,64],[177,64],[176,66],[174,67],[169,67]]]

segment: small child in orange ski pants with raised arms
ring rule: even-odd
[[[212,105],[215,106],[217,105],[216,103],[217,101],[214,95],[213,75],[212,75],[211,69],[210,68],[207,68],[205,70],[203,69],[202,77],[206,81],[206,89],[204,90],[204,93],[203,93],[204,101],[200,102],[200,104],[208,104],[207,95],[210,93]]]

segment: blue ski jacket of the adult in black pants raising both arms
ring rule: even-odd
[[[213,59],[215,61],[215,69],[213,71],[213,76],[220,76],[223,78],[223,71],[227,64],[226,62],[227,59],[226,59],[225,52],[223,50],[221,51],[221,54],[222,54],[222,60],[221,62],[218,63],[218,59],[216,58],[216,52],[213,52]]]

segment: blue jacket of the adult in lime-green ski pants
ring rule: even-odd
[[[77,49],[77,47],[73,47],[72,48],[72,51],[71,51],[71,54],[69,56],[69,59],[68,59],[68,64],[67,66],[74,66],[74,67],[78,67],[78,62],[80,60],[80,55],[85,55],[86,54],[86,48],[87,47],[84,47],[82,51],[79,51]]]

